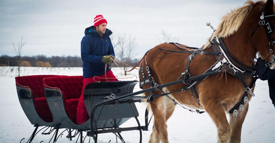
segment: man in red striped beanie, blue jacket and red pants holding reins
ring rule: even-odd
[[[108,81],[118,81],[109,69],[109,64],[112,63],[111,56],[115,57],[115,53],[109,38],[112,32],[106,26],[107,20],[102,15],[95,16],[94,26],[85,29],[85,36],[81,40],[83,88],[77,105],[77,124],[82,124],[88,119],[83,100],[84,88],[91,82],[106,81],[105,64],[108,64],[106,69]],[[95,77],[95,81],[94,76],[99,78]]]

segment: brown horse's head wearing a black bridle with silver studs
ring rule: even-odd
[[[249,20],[249,27],[251,30],[252,44],[258,52],[260,57],[264,60],[272,62],[270,69],[275,65],[275,7],[273,0],[266,1],[265,4],[255,3],[253,9],[247,15]]]

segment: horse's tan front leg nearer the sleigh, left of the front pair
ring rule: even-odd
[[[226,119],[226,114],[223,106],[218,101],[208,101],[208,103],[203,104],[204,109],[210,115],[216,127],[218,129],[218,142],[227,143],[230,135],[231,129],[230,125]]]

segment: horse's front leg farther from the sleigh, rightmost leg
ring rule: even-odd
[[[239,111],[236,117],[230,114],[231,136],[229,142],[241,142],[242,124],[248,111],[248,103],[244,104],[244,111]]]

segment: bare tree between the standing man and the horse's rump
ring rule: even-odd
[[[117,45],[117,57],[126,64],[131,63],[131,59],[137,55],[135,52],[135,48],[137,47],[137,41],[135,36],[132,34],[119,34],[117,37],[118,45]],[[128,69],[127,65],[123,64],[124,75],[127,75],[126,71]]]

